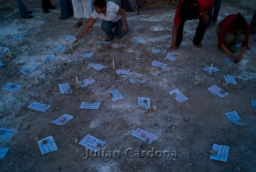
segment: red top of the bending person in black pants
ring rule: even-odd
[[[205,9],[209,9],[214,5],[215,0],[197,0],[199,4],[199,14],[203,14]],[[177,10],[175,12],[175,17],[174,17],[174,24],[175,25],[180,25],[181,23],[181,18],[179,17],[179,11],[180,11],[180,5],[184,2],[184,0],[180,0],[180,4],[177,7]]]

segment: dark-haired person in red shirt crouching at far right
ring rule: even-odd
[[[226,16],[217,26],[216,33],[219,47],[227,53],[232,61],[240,62],[242,54],[248,47],[250,34],[250,26],[241,13]],[[235,47],[241,42],[241,51],[236,57],[233,53],[236,52]]]

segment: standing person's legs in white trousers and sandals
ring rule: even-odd
[[[91,0],[72,0],[74,17],[78,18],[78,22],[74,28],[79,28],[82,25],[82,17],[86,18],[87,23],[92,16],[92,2]]]

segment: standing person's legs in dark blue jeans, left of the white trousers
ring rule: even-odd
[[[61,11],[61,16],[59,17],[59,19],[68,19],[71,15],[74,15],[71,0],[60,0],[59,2]]]

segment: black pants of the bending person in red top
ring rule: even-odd
[[[177,30],[177,38],[176,38],[176,46],[180,46],[182,39],[183,39],[183,28],[184,28],[185,22],[181,22],[178,30]],[[201,17],[199,19],[199,24],[196,31],[196,36],[194,37],[193,44],[199,45],[201,44],[201,41],[203,40],[204,33],[206,30],[208,23],[203,23],[203,18]]]

